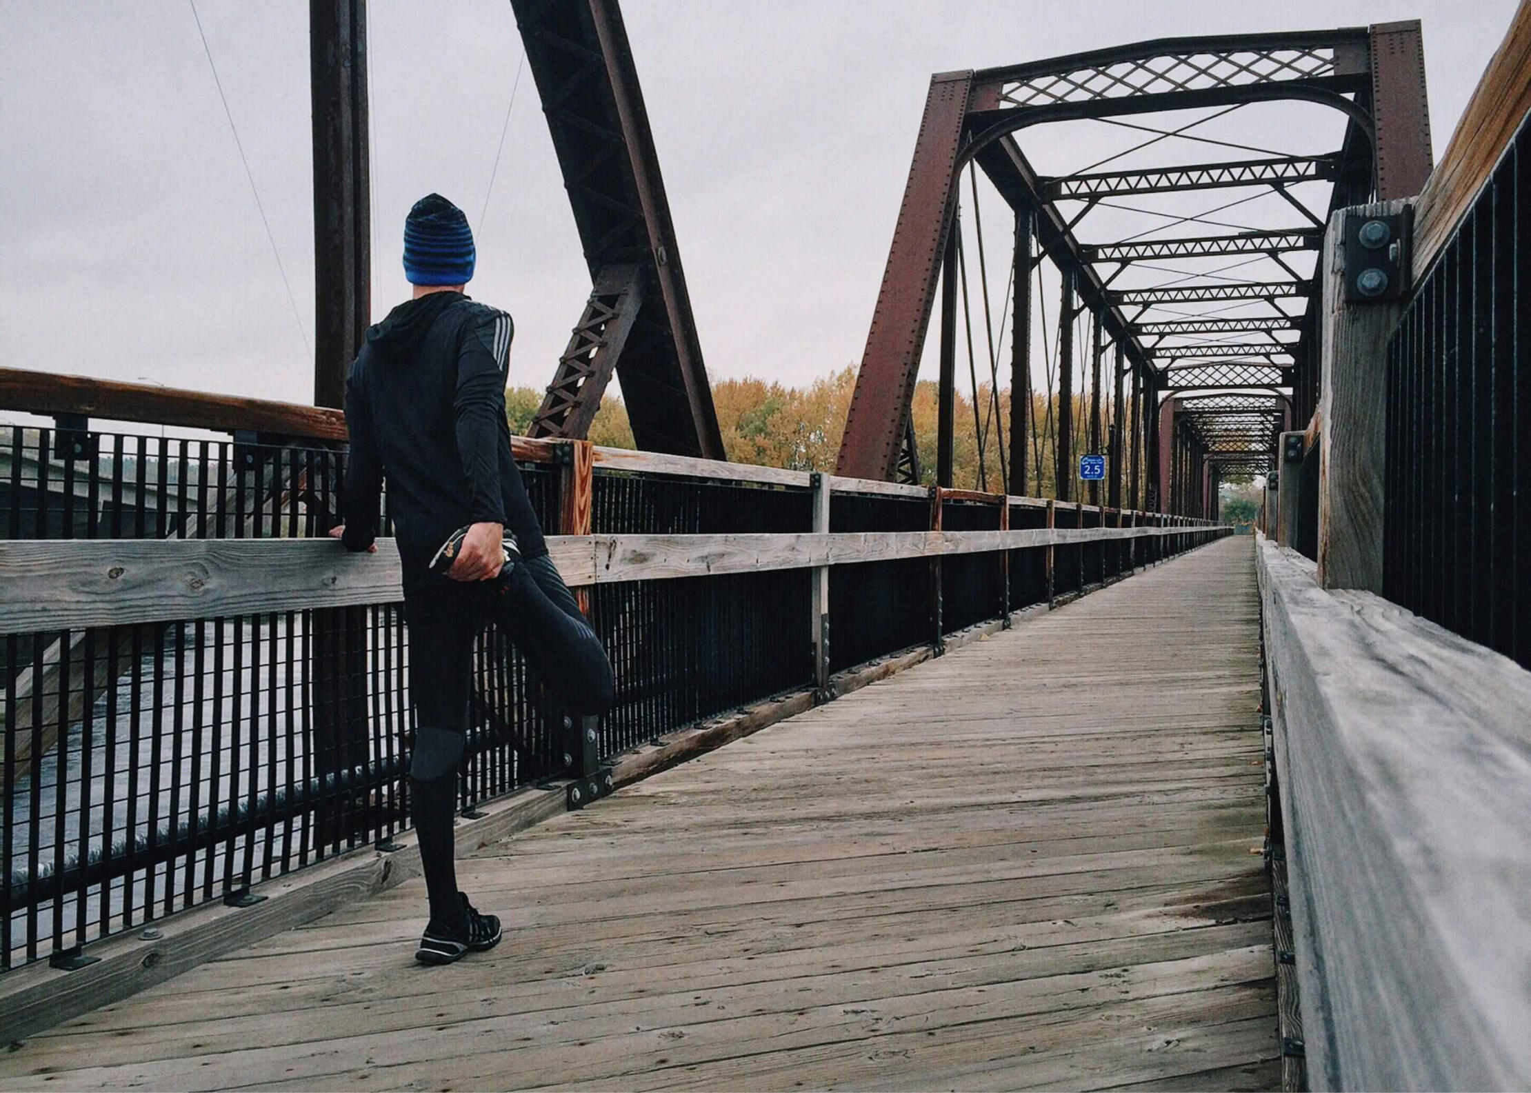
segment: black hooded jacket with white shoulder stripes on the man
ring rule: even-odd
[[[377,536],[387,478],[404,591],[446,580],[430,559],[465,524],[502,524],[524,557],[547,553],[510,452],[505,366],[514,325],[461,292],[401,303],[377,326],[346,378],[344,543]]]

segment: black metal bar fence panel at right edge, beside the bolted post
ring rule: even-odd
[[[1531,667],[1525,139],[1522,126],[1389,346],[1384,592]]]

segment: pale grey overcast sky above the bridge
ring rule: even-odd
[[[438,190],[478,236],[470,294],[516,317],[511,383],[540,387],[589,277],[530,73],[511,103],[521,40],[510,5],[371,0],[369,9],[374,315],[407,295],[403,217]],[[860,355],[931,72],[1154,37],[1418,17],[1439,156],[1513,9],[1513,0],[623,2],[709,372],[784,383]],[[306,11],[302,0],[197,0],[294,311],[187,0],[0,0],[0,361],[311,401]],[[1258,133],[1262,147],[1281,142],[1277,152],[1338,145],[1338,121],[1298,112],[1266,126],[1265,109],[1222,132]],[[1043,170],[1066,170],[1131,136],[1090,122],[1033,130],[1024,144]],[[1121,162],[1188,155],[1209,158],[1205,147],[1162,144]],[[1003,236],[1003,208],[983,201],[986,233],[997,223]],[[991,288],[995,306],[1001,289]]]

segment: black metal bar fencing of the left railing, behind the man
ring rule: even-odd
[[[344,461],[318,444],[51,429],[0,439],[0,537],[11,539],[320,536],[335,520]],[[557,528],[557,468],[522,473],[544,527]],[[596,533],[811,530],[802,487],[603,468],[591,487]],[[948,530],[997,528],[998,514],[995,504],[945,505]],[[1044,510],[1012,507],[1014,527],[1038,517]],[[919,496],[837,493],[831,505],[833,531],[929,522]],[[1058,548],[1069,588],[1104,573],[1082,573],[1090,550],[1101,554]],[[1046,553],[1009,551],[1010,606],[1047,599]],[[831,568],[831,667],[935,640],[937,571],[945,632],[997,617],[1001,559]],[[808,569],[597,585],[591,617],[617,677],[602,756],[814,680]],[[386,843],[407,824],[400,603],[11,634],[0,655],[0,969],[66,961],[98,937],[237,902],[260,880]],[[559,710],[519,654],[490,629],[475,657],[464,810],[568,764]]]

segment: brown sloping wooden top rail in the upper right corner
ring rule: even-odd
[[[1415,210],[1413,280],[1425,279],[1531,110],[1531,0],[1520,0],[1499,49],[1456,122]]]

